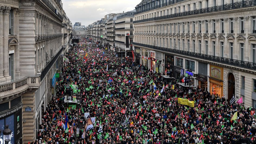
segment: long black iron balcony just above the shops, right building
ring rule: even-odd
[[[195,57],[197,59],[209,60],[209,61],[213,61],[213,62],[216,62],[216,63],[223,63],[223,64],[232,65],[232,66],[237,66],[237,67],[240,67],[240,68],[247,68],[247,69],[251,69],[251,70],[256,70],[256,63],[253,63],[253,62],[247,62],[247,61],[236,60],[236,59],[229,59],[229,58],[219,57],[219,56],[205,55],[205,54],[201,54],[201,53],[188,52],[188,51],[178,50],[178,49],[170,49],[170,48],[166,48],[166,47],[152,46],[152,45],[136,43],[136,42],[133,42],[133,44],[137,45],[137,46],[143,46],[143,47],[151,48],[151,49],[154,49],[154,50],[163,51],[163,52],[175,53],[175,54],[179,54],[179,55]]]

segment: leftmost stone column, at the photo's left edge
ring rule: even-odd
[[[3,11],[5,7],[0,6],[0,36],[3,35]],[[3,60],[3,38],[0,37],[0,78],[3,78],[3,65],[4,65],[4,60]]]

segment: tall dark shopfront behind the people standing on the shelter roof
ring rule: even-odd
[[[174,56],[165,55],[165,75],[173,77],[174,75]]]

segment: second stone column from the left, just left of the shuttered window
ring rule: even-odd
[[[4,36],[4,58],[3,58],[3,62],[4,62],[4,77],[9,76],[9,49],[8,49],[8,35],[9,35],[9,12],[11,10],[11,7],[5,7],[4,12],[3,12],[3,19],[4,19],[4,32],[3,32],[3,36]]]

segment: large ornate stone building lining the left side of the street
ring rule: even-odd
[[[59,0],[0,1],[0,129],[9,125],[11,143],[36,139],[71,27]]]

